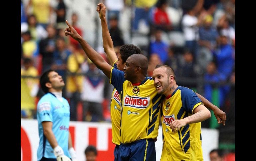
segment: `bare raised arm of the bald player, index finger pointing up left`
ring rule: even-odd
[[[103,73],[110,79],[110,73],[112,66],[109,65],[103,57],[97,53],[78,33],[77,31],[68,23],[66,20],[66,24],[68,25],[68,28],[65,30],[65,35],[70,35],[72,38],[74,38],[76,41],[80,43],[83,50],[85,51],[88,58],[95,64],[100,70],[103,71]]]

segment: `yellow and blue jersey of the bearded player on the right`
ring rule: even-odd
[[[193,114],[202,104],[189,88],[178,86],[171,97],[162,101],[163,150],[161,161],[202,161],[201,122],[187,124],[173,133],[170,123]]]

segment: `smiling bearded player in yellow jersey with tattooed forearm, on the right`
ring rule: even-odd
[[[176,84],[174,71],[157,65],[153,79],[162,100],[163,150],[161,161],[202,161],[201,121],[211,117],[195,92]]]

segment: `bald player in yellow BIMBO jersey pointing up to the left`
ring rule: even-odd
[[[154,139],[157,138],[161,95],[154,81],[147,77],[148,59],[142,54],[131,55],[124,71],[113,68],[66,21],[66,35],[72,36],[82,46],[88,58],[110,79],[117,89],[121,103],[121,140],[118,160],[155,161]],[[130,45],[134,46],[134,45]]]

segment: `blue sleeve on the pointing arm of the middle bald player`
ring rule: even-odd
[[[113,69],[111,74],[111,84],[116,88],[118,93],[120,94],[123,90],[123,83],[125,81],[124,79],[124,72],[120,71],[118,69]]]

